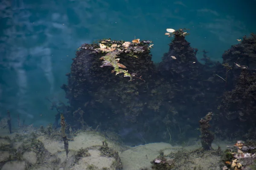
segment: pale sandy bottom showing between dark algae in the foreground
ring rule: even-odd
[[[15,134],[16,133],[10,135],[6,132],[6,130],[0,131],[0,136],[8,135],[10,138],[15,138]],[[42,141],[45,149],[47,149],[52,155],[57,156],[61,160],[61,163],[67,161],[63,141],[49,139],[46,135],[40,135],[38,140]],[[106,139],[100,133],[84,131],[78,133],[73,138],[73,141],[69,141],[70,153],[68,160],[72,158],[77,150],[81,148],[93,147],[95,145],[102,145],[102,141],[104,140],[108,141],[109,147],[118,151],[119,157],[122,161],[123,170],[141,170],[142,168],[151,170],[151,161],[160,155],[160,151],[163,151],[164,155],[169,155],[170,153],[177,153],[180,150],[183,150],[183,152],[189,152],[190,150],[197,150],[198,148],[201,148],[200,141],[195,141],[193,145],[186,147],[172,146],[171,144],[163,142],[139,145],[136,147],[127,147]],[[13,147],[18,148],[21,144],[22,142],[15,142],[13,143]],[[215,141],[215,143],[212,144],[212,147],[217,149],[218,146],[220,146],[221,149],[224,150],[226,149],[226,145],[230,145],[230,142]],[[88,152],[90,153],[90,157],[81,158],[79,162],[76,163],[76,166],[73,166],[70,170],[86,170],[88,169],[87,167],[89,165],[95,165],[99,170],[102,170],[104,167],[111,167],[111,163],[114,161],[113,158],[102,157],[98,150],[92,149]],[[220,170],[220,167],[218,166],[220,156],[213,156],[211,153],[204,153],[204,156],[194,154],[190,157],[187,156],[186,159],[184,158],[184,160],[181,161],[183,161],[184,164],[189,162],[189,164],[186,164],[185,166],[182,165],[183,163],[181,163],[179,170],[193,169],[198,166],[207,168],[207,170]],[[21,164],[21,162],[17,162],[17,164]],[[43,169],[47,170],[51,168],[41,165],[33,167],[33,170]],[[64,168],[58,167],[57,170],[64,170]]]

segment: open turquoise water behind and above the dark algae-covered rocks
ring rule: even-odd
[[[71,58],[82,43],[100,38],[152,40],[160,62],[171,41],[166,28],[187,28],[198,59],[205,49],[222,61],[236,39],[255,32],[255,6],[255,0],[1,0],[0,116],[9,109],[26,124],[52,122],[56,112],[45,97],[65,102],[60,86]]]

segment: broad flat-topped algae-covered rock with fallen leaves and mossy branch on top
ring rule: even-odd
[[[104,129],[120,126],[121,118],[135,123],[142,116],[146,86],[156,76],[151,41],[124,43],[99,40],[99,44],[83,44],[76,52],[68,85],[62,86],[71,106],[65,115],[68,124],[81,128],[100,117],[98,124]]]

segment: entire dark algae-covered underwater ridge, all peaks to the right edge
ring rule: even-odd
[[[53,106],[55,121],[63,114],[74,129],[130,128],[121,136],[128,142],[172,142],[198,136],[198,121],[212,112],[216,136],[256,139],[256,35],[231,46],[223,63],[205,51],[200,63],[186,29],[167,31],[169,51],[156,64],[149,40],[81,45],[61,86],[69,106]]]

